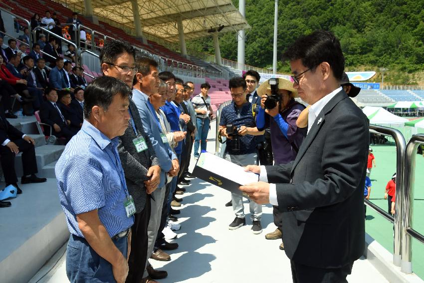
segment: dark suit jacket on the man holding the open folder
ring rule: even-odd
[[[277,183],[287,257],[340,268],[364,251],[368,119],[342,90],[318,114],[293,162],[265,166]]]

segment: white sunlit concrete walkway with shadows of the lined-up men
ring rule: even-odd
[[[212,124],[212,132],[214,123]],[[208,142],[208,151],[214,152],[214,133]],[[193,159],[194,161],[194,159]],[[193,162],[192,162],[193,163]],[[193,168],[193,164],[191,165]],[[231,207],[225,207],[230,200],[229,192],[212,186],[199,179],[193,179],[187,192],[181,214],[177,215],[182,228],[178,238],[173,240],[179,248],[171,251],[170,262],[150,260],[155,269],[166,270],[168,278],[161,283],[289,283],[290,262],[278,246],[281,240],[265,240],[265,234],[275,230],[271,206],[263,206],[262,227],[259,235],[252,234],[248,201],[245,200],[246,226],[228,230],[234,219]],[[33,282],[68,282],[65,273],[65,247],[52,259],[52,267],[46,267],[42,275]],[[35,279],[35,278],[34,278]],[[350,283],[388,282],[370,262],[360,259],[353,266],[348,277]]]

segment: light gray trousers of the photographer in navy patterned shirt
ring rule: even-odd
[[[256,164],[257,154],[249,153],[242,155],[232,155],[225,153],[224,159],[240,166]],[[262,206],[249,200],[250,218],[252,221],[260,221],[262,216]],[[237,194],[231,194],[232,210],[238,218],[244,218],[243,197]]]

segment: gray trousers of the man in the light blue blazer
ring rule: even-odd
[[[153,193],[151,202],[151,213],[149,226],[147,227],[147,238],[148,238],[148,249],[147,249],[147,258],[149,259],[152,255],[153,248],[155,247],[156,237],[158,237],[158,230],[161,224],[162,216],[162,206],[165,199],[165,186],[162,188],[157,188]],[[149,266],[149,260],[146,261],[146,267]],[[143,278],[148,276],[146,269],[144,270]]]

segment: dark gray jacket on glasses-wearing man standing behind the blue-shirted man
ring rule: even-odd
[[[130,110],[137,132],[144,137],[147,149],[137,153],[133,140],[137,137],[132,126],[129,126],[123,136],[119,137],[118,152],[125,173],[128,192],[134,198],[137,213],[143,211],[146,205],[146,189],[144,181],[149,180],[147,172],[151,166],[160,165],[152,142],[143,128],[143,124],[134,101],[130,99]],[[160,188],[158,188],[160,190]]]

